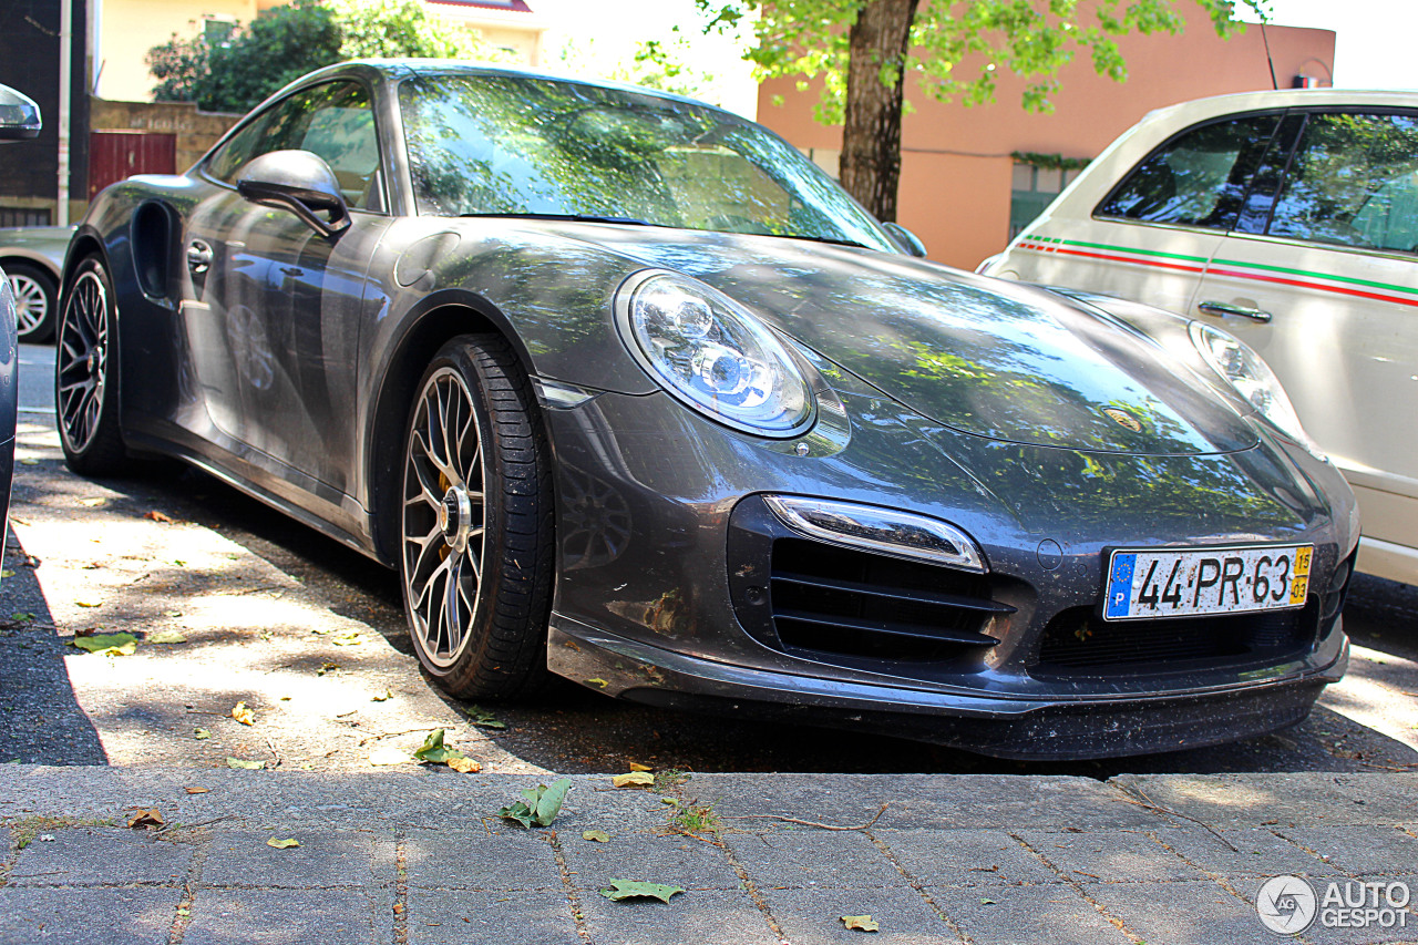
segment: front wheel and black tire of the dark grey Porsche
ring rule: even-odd
[[[417,390],[398,556],[414,650],[455,697],[532,695],[550,680],[556,569],[550,450],[532,385],[502,338],[462,335]]]

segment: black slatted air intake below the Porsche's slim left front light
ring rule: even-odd
[[[793,538],[773,542],[769,606],[787,651],[913,661],[993,647],[984,624],[1014,612],[981,575]]]

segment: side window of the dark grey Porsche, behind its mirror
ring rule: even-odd
[[[384,209],[374,112],[363,87],[329,82],[277,102],[223,145],[207,170],[235,183],[237,172],[252,158],[288,149],[323,158],[349,206]]]

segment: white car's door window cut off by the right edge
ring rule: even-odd
[[[1269,233],[1418,253],[1418,118],[1310,115]]]

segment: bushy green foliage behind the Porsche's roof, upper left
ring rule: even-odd
[[[472,30],[430,20],[418,0],[292,0],[228,41],[173,35],[147,51],[156,101],[244,112],[312,70],[366,57],[499,58]]]

